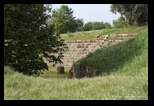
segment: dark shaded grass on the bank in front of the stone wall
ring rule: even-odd
[[[135,56],[141,54],[142,49],[145,49],[145,45],[147,45],[147,38],[147,32],[141,33],[128,41],[98,49],[79,60],[79,62],[85,66],[96,68],[101,73],[108,75],[122,68]]]

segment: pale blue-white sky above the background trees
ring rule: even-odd
[[[109,22],[120,17],[120,14],[113,14],[110,11],[111,4],[52,4],[52,9],[59,9],[61,5],[67,5],[71,8],[73,16],[76,19],[83,19],[84,23],[87,22]]]

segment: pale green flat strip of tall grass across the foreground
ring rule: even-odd
[[[145,77],[44,79],[18,73],[4,77],[5,100],[146,100],[148,94]]]

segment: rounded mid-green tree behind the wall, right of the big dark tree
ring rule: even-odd
[[[61,33],[75,32],[77,24],[73,17],[73,10],[67,5],[62,5],[60,9],[53,10],[51,24],[54,25],[56,31]]]

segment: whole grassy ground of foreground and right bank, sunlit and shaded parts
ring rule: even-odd
[[[148,94],[148,30],[134,39],[102,48],[82,64],[102,71],[83,79],[28,77],[4,68],[4,99],[144,99]],[[99,64],[92,64],[99,63]]]

